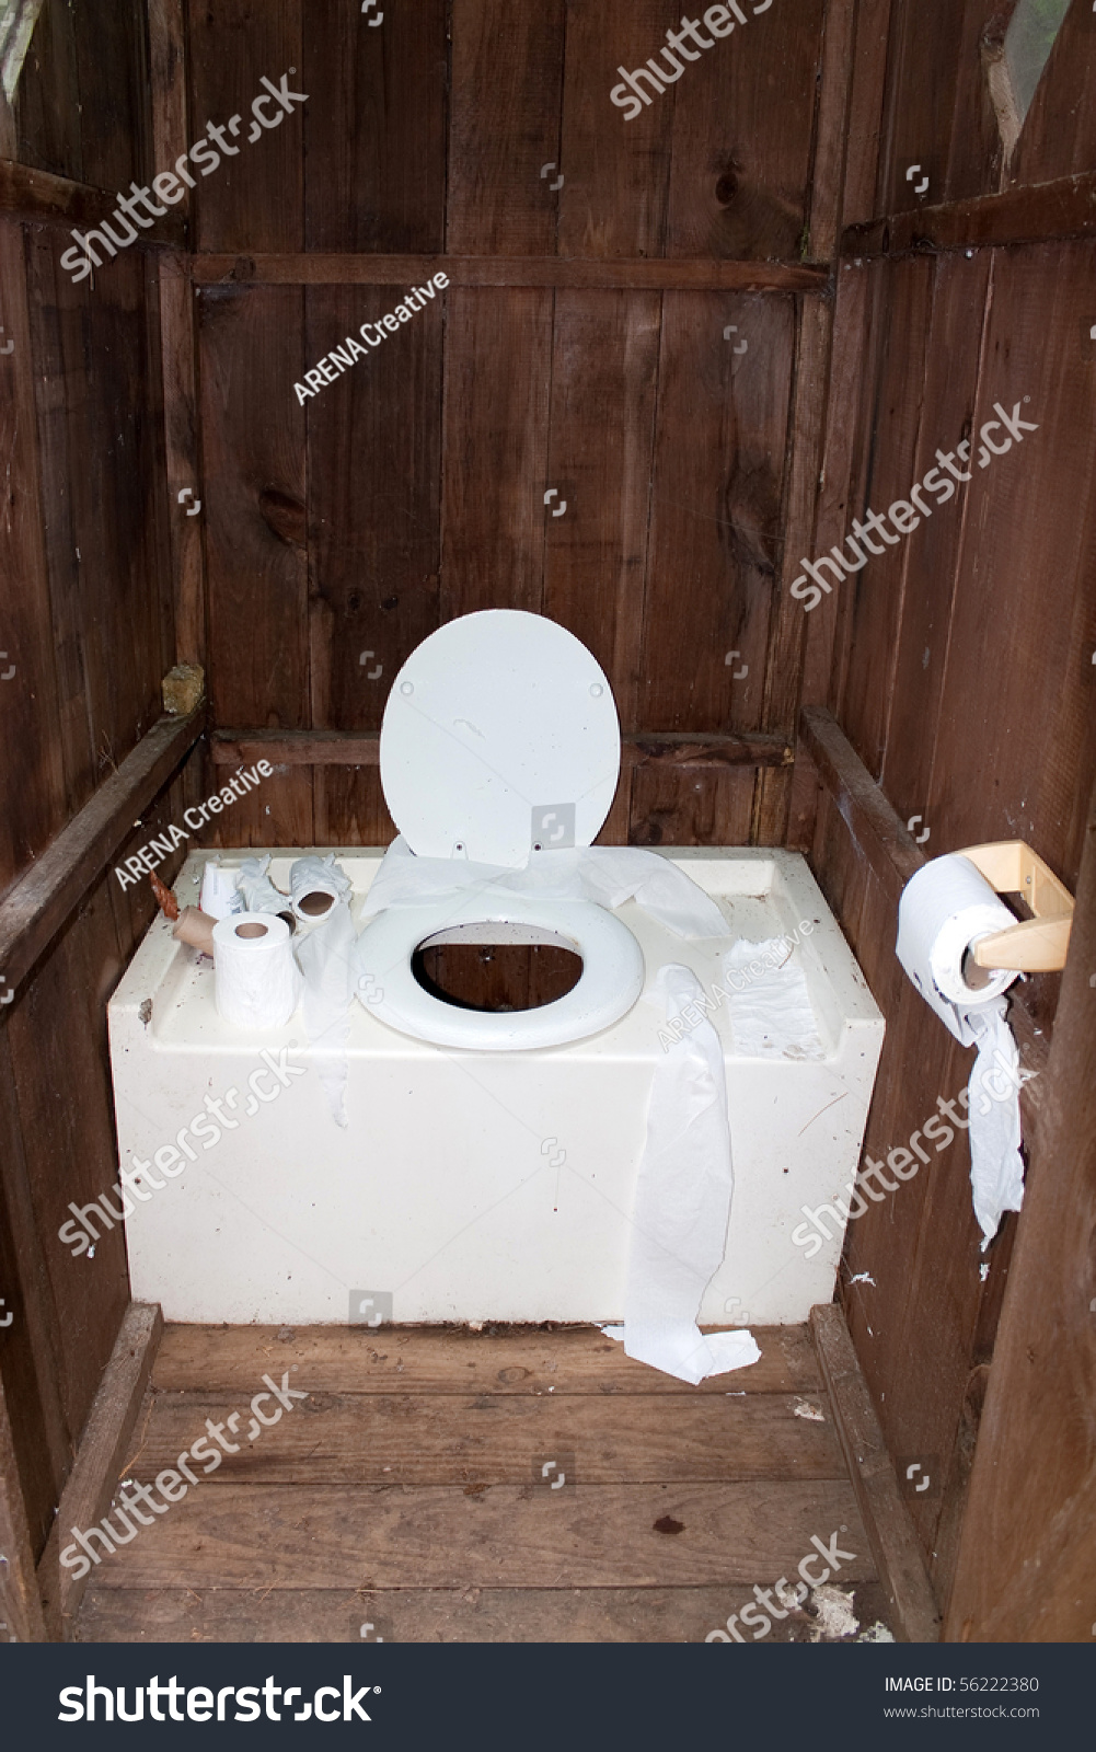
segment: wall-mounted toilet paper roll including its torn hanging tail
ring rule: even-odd
[[[1001,1214],[1019,1211],[1024,1198],[1019,1053],[1003,997],[1017,974],[986,971],[987,983],[972,986],[963,957],[979,937],[1008,925],[1015,925],[1015,916],[958,851],[924,864],[898,902],[898,960],[956,1041],[979,1049],[968,1084],[968,1114],[970,1183],[982,1251],[996,1235]]]

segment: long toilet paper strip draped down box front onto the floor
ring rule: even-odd
[[[700,995],[697,976],[669,964],[655,974],[648,999],[664,1004],[672,1021]],[[723,1046],[711,1021],[702,1021],[655,1067],[623,1326],[602,1328],[623,1339],[629,1356],[693,1386],[762,1354],[749,1332],[704,1335],[697,1326],[704,1289],[723,1263],[732,1191]]]

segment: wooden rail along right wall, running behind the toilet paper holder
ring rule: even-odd
[[[840,724],[825,706],[804,706],[800,746],[814,762],[853,843],[860,846],[872,874],[896,911],[907,881],[923,864],[928,864],[921,846],[903,827],[895,806],[888,802]],[[1008,992],[1008,1021],[1024,1069],[1036,1072],[1035,1079],[1024,1083],[1021,1090],[1021,1113],[1024,1114],[1024,1135],[1028,1135],[1043,1100],[1040,1072],[1047,1069],[1049,1048],[1045,1032],[1036,1027],[1017,986]]]

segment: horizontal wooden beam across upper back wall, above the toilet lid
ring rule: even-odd
[[[411,286],[445,273],[452,286],[562,286],[581,291],[818,293],[830,270],[809,261],[597,256],[191,256],[198,286]]]

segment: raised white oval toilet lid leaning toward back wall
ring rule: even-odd
[[[518,867],[588,846],[620,776],[601,664],[566,627],[513,608],[431,632],[392,683],[380,783],[418,857]]]

